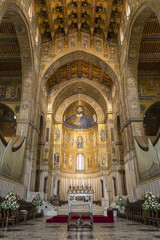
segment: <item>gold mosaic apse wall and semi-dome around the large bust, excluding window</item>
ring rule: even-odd
[[[83,104],[83,101],[71,104],[64,112],[64,122],[54,124],[54,146],[53,146],[53,166],[61,168],[65,172],[75,173],[77,170],[77,156],[84,157],[85,173],[96,172],[100,167],[108,166],[106,151],[106,125],[96,123],[94,110],[83,104],[84,118],[89,119],[91,126],[81,128],[69,125],[67,119],[75,118],[76,106]],[[82,105],[81,105],[82,106]],[[69,123],[74,123],[70,121]]]

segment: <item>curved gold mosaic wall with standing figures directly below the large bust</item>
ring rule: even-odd
[[[89,130],[63,127],[61,168],[75,172],[79,153],[84,156],[85,172],[99,169],[97,126]]]

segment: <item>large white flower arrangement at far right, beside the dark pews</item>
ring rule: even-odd
[[[145,202],[142,204],[144,210],[157,212],[160,209],[160,203],[158,203],[157,198],[151,192],[145,194],[145,199]]]

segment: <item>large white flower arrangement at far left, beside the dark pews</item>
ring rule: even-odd
[[[14,192],[9,192],[5,197],[5,200],[1,203],[1,208],[4,210],[17,210],[19,208],[19,204],[17,203],[16,194]]]

